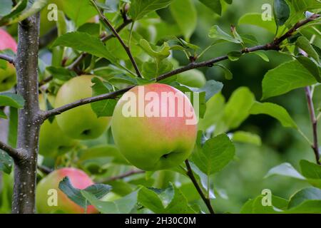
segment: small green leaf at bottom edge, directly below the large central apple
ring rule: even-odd
[[[165,212],[163,203],[158,197],[157,193],[153,190],[148,190],[146,187],[142,187],[138,192],[138,202],[152,212],[156,214],[162,214]]]

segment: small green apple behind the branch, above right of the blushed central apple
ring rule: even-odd
[[[206,78],[202,71],[192,69],[185,71],[177,76],[177,81],[185,86],[202,88],[205,86]]]

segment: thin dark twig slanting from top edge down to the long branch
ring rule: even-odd
[[[115,35],[116,38],[118,39],[118,41],[121,43],[121,46],[123,46],[123,48],[125,49],[128,57],[131,59],[131,63],[133,64],[133,68],[135,68],[137,76],[141,78],[141,71],[139,71],[139,68],[138,68],[137,63],[135,61],[135,58],[133,58],[133,54],[131,53],[131,48],[129,48],[129,46],[126,45],[126,43],[123,41],[121,36],[119,36],[119,34],[116,31],[116,29],[113,28],[112,24],[108,21],[106,16],[103,15],[103,13],[101,12],[101,10],[98,8],[98,6],[96,4],[96,1],[91,0],[91,3],[93,4],[93,6],[98,11],[98,14],[99,14],[99,17],[100,17],[101,21],[103,21],[103,23],[106,24],[106,26],[108,26],[108,28],[111,29],[111,31],[113,32],[113,35]]]

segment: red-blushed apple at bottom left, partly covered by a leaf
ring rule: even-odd
[[[63,212],[67,214],[83,214],[84,209],[71,201],[58,185],[63,177],[69,177],[73,187],[85,189],[93,185],[93,181],[82,170],[75,168],[62,168],[54,170],[48,176],[44,177],[36,187],[36,209],[41,214],[51,214],[54,212]],[[88,206],[88,214],[97,213],[93,206]]]

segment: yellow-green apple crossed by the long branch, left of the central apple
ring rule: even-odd
[[[94,76],[78,76],[61,86],[56,95],[55,107],[72,103],[73,101],[92,96]],[[56,116],[58,126],[70,138],[89,140],[98,138],[105,132],[111,118],[97,118],[96,113],[91,109],[91,104],[82,105],[68,110]]]

